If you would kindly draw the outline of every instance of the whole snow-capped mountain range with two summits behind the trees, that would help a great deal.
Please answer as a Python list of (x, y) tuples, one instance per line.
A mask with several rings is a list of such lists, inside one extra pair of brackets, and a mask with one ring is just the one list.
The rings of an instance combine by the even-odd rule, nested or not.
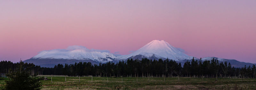
[[(106, 62), (118, 62), (119, 60), (127, 59), (172, 59), (183, 65), (186, 61), (192, 60), (193, 56), (188, 56), (179, 49), (171, 46), (164, 40), (153, 40), (138, 49), (137, 51), (122, 56), (115, 56), (109, 53), (108, 50), (96, 50), (87, 49), (83, 46), (69, 46), (67, 49), (53, 49), (41, 51), (38, 55), (25, 60), (26, 63), (34, 63), (42, 67), (54, 67), (57, 64), (75, 64), (79, 62), (91, 62), (92, 64), (106, 63)], [(249, 66), (251, 63), (239, 62), (234, 59), (223, 59), (218, 57), (204, 57), (205, 60), (218, 59), (220, 62), (227, 61), (234, 67), (244, 67), (244, 65)], [(199, 60), (195, 57), (196, 60)]]

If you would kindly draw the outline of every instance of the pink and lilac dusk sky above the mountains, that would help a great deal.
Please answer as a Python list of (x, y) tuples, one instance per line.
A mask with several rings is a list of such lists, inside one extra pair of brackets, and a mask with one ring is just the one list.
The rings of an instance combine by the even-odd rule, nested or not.
[(197, 58), (256, 63), (255, 0), (0, 0), (0, 60), (80, 45), (129, 54), (164, 40)]

